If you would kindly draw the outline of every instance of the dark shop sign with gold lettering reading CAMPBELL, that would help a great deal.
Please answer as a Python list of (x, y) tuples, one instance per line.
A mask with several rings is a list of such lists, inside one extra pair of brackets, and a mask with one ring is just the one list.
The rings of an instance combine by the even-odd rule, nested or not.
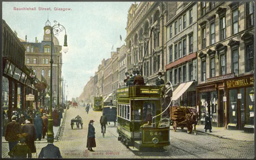
[(247, 78), (241, 78), (237, 80), (226, 81), (227, 88), (253, 85), (253, 82), (254, 82), (254, 77), (247, 77)]

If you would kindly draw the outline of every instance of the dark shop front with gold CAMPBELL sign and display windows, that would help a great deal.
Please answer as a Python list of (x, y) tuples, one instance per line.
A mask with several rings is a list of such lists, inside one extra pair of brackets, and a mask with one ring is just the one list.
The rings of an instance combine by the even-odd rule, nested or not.
[[(254, 130), (254, 77), (237, 77), (226, 80), (228, 128), (235, 130)], [(253, 93), (254, 94), (254, 93)]]

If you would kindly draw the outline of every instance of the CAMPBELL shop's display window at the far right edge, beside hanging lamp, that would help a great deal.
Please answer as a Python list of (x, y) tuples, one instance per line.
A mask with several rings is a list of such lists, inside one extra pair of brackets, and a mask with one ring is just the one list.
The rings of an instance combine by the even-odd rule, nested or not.
[(252, 87), (246, 88), (246, 119), (245, 124), (254, 125), (254, 103), (251, 101), (250, 92)]

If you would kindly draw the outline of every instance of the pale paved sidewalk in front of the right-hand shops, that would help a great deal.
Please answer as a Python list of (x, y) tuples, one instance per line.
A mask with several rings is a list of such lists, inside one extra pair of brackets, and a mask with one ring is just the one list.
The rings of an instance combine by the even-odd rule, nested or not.
[[(173, 129), (172, 126), (170, 128)], [(184, 130), (187, 130), (187, 128), (184, 128)], [(212, 127), (212, 133), (210, 133), (209, 130), (205, 132), (204, 125), (197, 125), (196, 131), (224, 139), (254, 142), (254, 133), (246, 133), (241, 130), (228, 130), (224, 127)], [(194, 134), (194, 129), (192, 134)]]

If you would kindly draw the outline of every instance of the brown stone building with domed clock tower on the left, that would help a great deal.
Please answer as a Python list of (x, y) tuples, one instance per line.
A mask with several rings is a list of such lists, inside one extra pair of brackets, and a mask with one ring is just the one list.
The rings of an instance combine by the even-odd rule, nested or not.
[[(21, 39), (22, 44), (26, 48), (25, 52), (25, 64), (28, 67), (31, 67), (34, 71), (35, 75), (38, 79), (43, 79), (41, 76), (45, 78), (47, 84), (50, 86), (50, 53), (51, 53), (51, 24), (49, 20), (46, 21), (44, 26), (44, 36), (43, 41), (38, 42), (37, 37), (35, 37), (35, 42), (28, 42), (27, 35), (25, 37), (25, 41)], [(61, 87), (61, 68), (62, 68), (62, 54), (59, 54), (62, 46), (59, 45), (58, 39), (53, 36), (53, 72), (52, 72), (52, 102), (57, 103), (57, 69), (59, 69), (59, 100), (62, 100), (62, 87)], [(58, 63), (58, 55), (59, 55), (59, 68)]]

